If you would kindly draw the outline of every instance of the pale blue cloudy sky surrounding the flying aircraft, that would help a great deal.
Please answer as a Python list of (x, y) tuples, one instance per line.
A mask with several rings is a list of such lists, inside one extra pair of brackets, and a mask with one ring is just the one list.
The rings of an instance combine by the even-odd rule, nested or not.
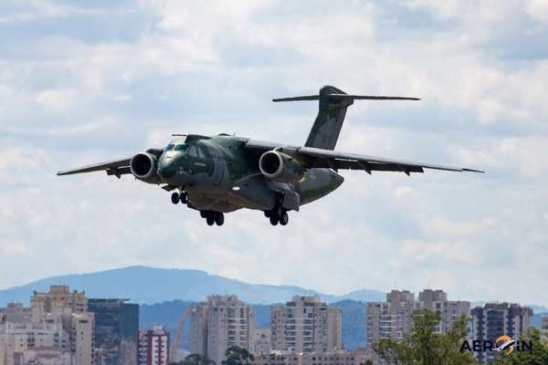
[[(548, 305), (546, 1), (4, 0), (0, 34), (0, 288), (142, 265)], [(285, 227), (56, 175), (172, 133), (300, 145), (317, 103), (271, 99), (323, 85), (421, 98), (356, 100), (337, 151), (487, 173), (341, 171)]]

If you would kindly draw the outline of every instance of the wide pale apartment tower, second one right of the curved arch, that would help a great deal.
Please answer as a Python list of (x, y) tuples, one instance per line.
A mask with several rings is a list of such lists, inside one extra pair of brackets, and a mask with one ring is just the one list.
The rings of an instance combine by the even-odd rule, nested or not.
[(328, 352), (342, 349), (342, 309), (328, 307), (319, 296), (295, 296), (270, 309), (270, 349)]

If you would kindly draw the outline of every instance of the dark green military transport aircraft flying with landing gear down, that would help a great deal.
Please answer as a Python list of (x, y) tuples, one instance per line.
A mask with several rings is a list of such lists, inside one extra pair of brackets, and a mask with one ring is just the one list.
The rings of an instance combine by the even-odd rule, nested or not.
[(333, 151), (346, 109), (357, 99), (418, 100), (400, 97), (348, 95), (324, 86), (319, 95), (272, 101), (319, 100), (320, 109), (304, 146), (255, 141), (228, 134), (174, 134), (164, 148), (132, 157), (58, 172), (70, 175), (104, 170), (120, 179), (132, 174), (143, 183), (162, 185), (172, 203), (200, 212), (208, 225), (223, 225), (225, 213), (248, 208), (263, 211), (272, 225), (288, 224), (289, 211), (314, 202), (341, 186), (339, 170), (423, 172), (423, 168), (452, 172), (477, 170), (423, 162), (408, 162)]

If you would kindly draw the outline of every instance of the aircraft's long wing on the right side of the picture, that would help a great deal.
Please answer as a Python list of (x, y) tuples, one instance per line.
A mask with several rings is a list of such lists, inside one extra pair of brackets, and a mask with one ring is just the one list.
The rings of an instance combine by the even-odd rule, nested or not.
[(313, 147), (297, 147), (276, 144), (263, 141), (248, 141), (246, 149), (253, 151), (271, 151), (278, 147), (291, 151), (290, 154), (296, 154), (293, 157), (304, 162), (305, 167), (323, 167), (337, 170), (364, 170), (367, 173), (373, 171), (388, 172), (424, 172), (423, 169), (446, 170), (452, 172), (481, 172), (479, 170), (466, 169), (461, 167), (438, 165), (435, 163), (411, 162), (405, 160), (389, 159), (385, 157), (369, 156), (364, 154), (355, 154), (348, 152), (323, 150)]

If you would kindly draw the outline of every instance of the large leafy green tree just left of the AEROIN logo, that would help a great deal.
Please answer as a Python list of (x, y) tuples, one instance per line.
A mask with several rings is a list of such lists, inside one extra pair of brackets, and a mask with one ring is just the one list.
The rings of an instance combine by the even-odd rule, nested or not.
[(399, 364), (467, 365), (474, 364), (471, 353), (460, 352), (462, 341), (469, 335), (469, 321), (465, 315), (456, 319), (444, 334), (436, 333), (441, 313), (425, 309), (411, 314), (413, 328), (404, 334), (400, 343), (394, 339), (380, 339), (373, 344), (381, 359)]

